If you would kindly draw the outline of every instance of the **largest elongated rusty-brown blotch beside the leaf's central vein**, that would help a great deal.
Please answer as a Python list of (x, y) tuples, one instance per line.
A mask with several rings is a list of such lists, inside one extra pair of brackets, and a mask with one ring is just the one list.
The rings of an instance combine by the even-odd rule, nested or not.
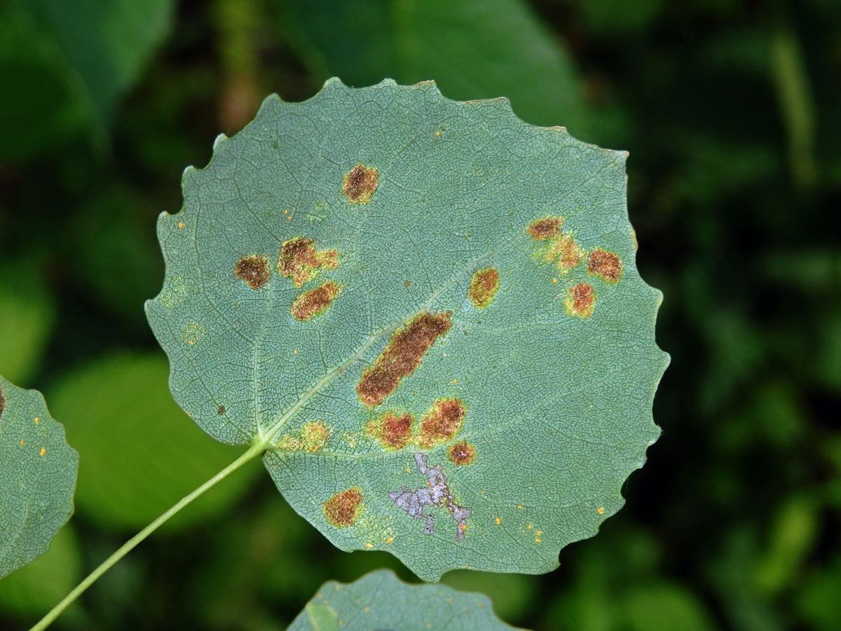
[(424, 313), (394, 331), (373, 366), (362, 373), (357, 384), (359, 400), (366, 406), (380, 405), (400, 383), (421, 365), (424, 354), (438, 337), (450, 330), (450, 314)]

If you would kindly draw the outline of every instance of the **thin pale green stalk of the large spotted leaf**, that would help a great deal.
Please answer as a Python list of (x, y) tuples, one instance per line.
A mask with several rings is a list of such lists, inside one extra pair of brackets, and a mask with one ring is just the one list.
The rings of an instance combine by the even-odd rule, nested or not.
[(266, 442), (259, 440), (251, 445), (251, 448), (248, 449), (245, 453), (243, 453), (239, 458), (235, 459), (234, 462), (229, 464), (225, 469), (222, 469), (218, 474), (214, 475), (210, 480), (205, 482), (203, 485), (199, 486), (198, 489), (193, 490), (187, 496), (183, 496), (181, 500), (177, 501), (176, 504), (171, 506), (167, 512), (161, 514), (160, 517), (157, 517), (154, 522), (151, 522), (148, 526), (143, 528), (140, 533), (135, 534), (134, 537), (130, 538), (126, 541), (114, 554), (105, 559), (98, 567), (93, 570), (87, 577), (79, 583), (73, 590), (67, 594), (64, 599), (59, 602), (56, 607), (53, 607), (44, 618), (41, 618), (40, 621), (34, 625), (29, 631), (43, 631), (43, 629), (50, 626), (56, 618), (61, 615), (61, 612), (67, 607), (70, 607), (73, 601), (75, 601), (78, 597), (82, 595), (82, 592), (87, 590), (88, 587), (92, 586), (97, 579), (105, 574), (111, 567), (122, 559), (126, 554), (128, 554), (132, 549), (135, 549), (137, 544), (140, 544), (146, 537), (154, 533), (158, 528), (161, 527), (167, 520), (179, 512), (184, 506), (187, 506), (191, 501), (195, 500), (198, 496), (202, 495), (205, 490), (208, 490), (212, 486), (216, 485), (221, 480), (225, 480), (230, 474), (232, 474), (236, 469), (239, 469), (243, 464), (257, 458), (263, 451), (266, 449)]

